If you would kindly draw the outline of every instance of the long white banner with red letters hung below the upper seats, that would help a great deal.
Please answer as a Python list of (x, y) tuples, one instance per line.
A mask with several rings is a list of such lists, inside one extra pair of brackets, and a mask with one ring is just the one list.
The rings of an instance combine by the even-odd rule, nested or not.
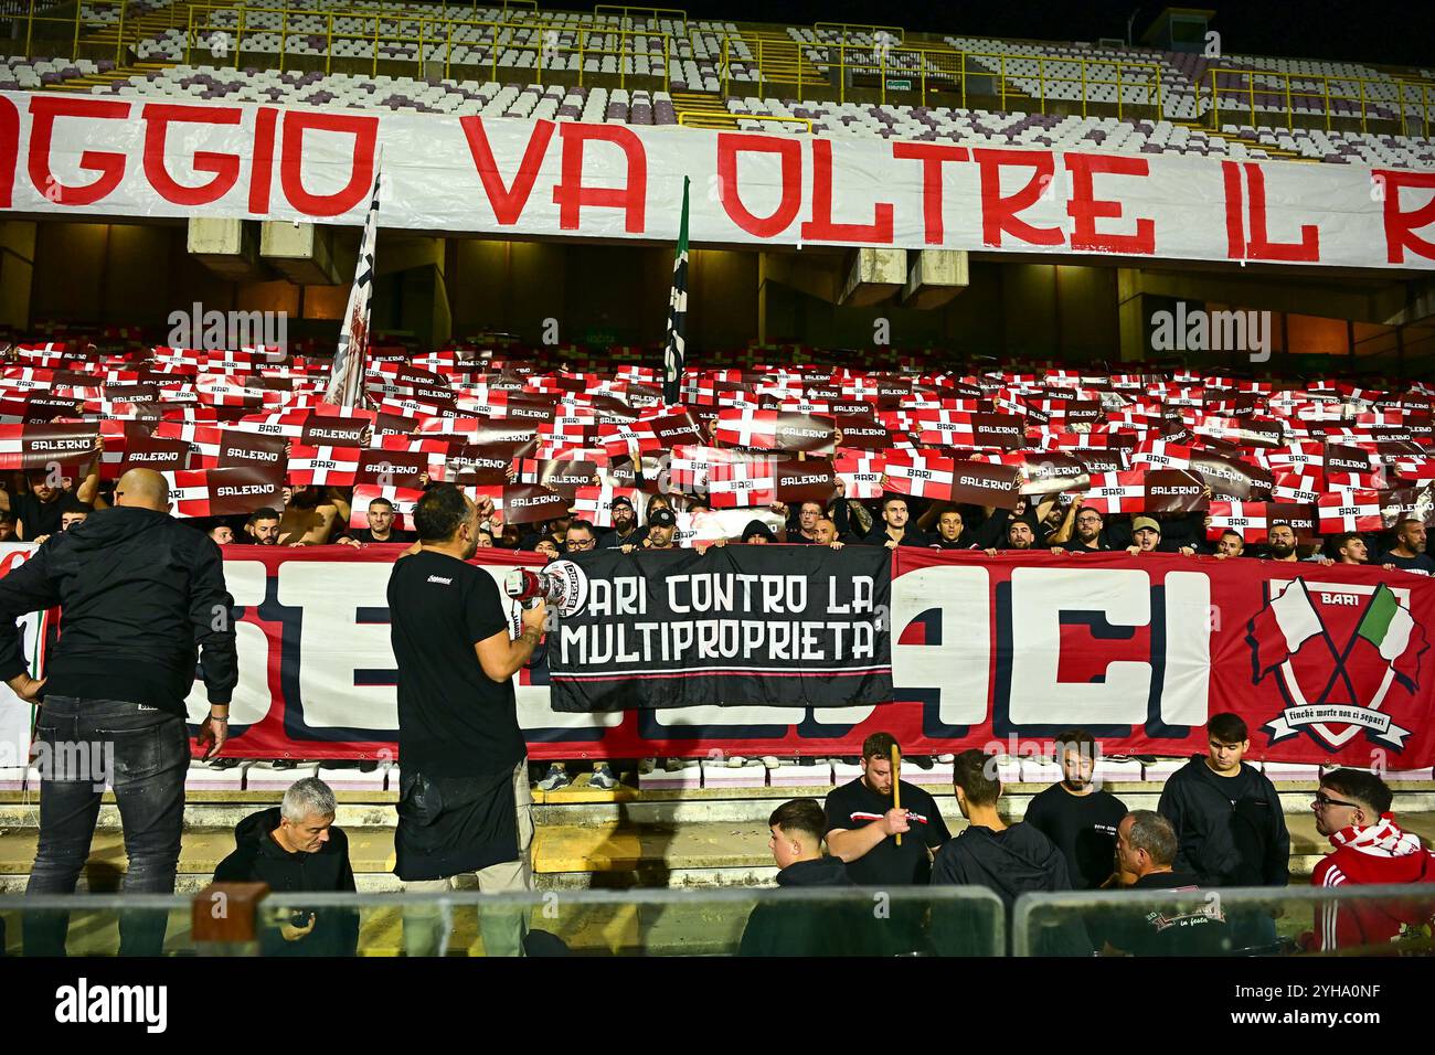
[(0, 93), (0, 210), (1435, 267), (1435, 171)]

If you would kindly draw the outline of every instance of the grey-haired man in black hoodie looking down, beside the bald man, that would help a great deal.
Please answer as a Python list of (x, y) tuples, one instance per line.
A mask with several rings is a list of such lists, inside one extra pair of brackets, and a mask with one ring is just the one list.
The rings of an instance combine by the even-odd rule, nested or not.
[[(234, 853), (214, 870), (215, 883), (267, 883), (274, 894), (354, 890), (349, 840), (334, 827), (333, 789), (317, 777), (294, 781), (277, 807), (250, 814), (234, 828)], [(287, 899), (277, 929), (261, 937), (264, 956), (353, 956), (359, 914), (350, 909), (301, 909)]]

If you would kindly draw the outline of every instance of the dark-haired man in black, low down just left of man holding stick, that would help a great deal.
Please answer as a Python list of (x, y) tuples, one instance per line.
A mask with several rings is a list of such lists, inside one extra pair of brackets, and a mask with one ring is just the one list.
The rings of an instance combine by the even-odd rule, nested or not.
[[(795, 798), (784, 802), (768, 818), (772, 837), (768, 848), (778, 863), (778, 886), (828, 887), (835, 891), (854, 887), (841, 857), (822, 855), (822, 830), (827, 814), (817, 800)], [(742, 932), (739, 956), (851, 956), (860, 947), (854, 923), (870, 917), (855, 901), (824, 901), (821, 890), (806, 903), (759, 904)], [(854, 909), (857, 911), (854, 913)], [(842, 920), (847, 920), (844, 924)]]

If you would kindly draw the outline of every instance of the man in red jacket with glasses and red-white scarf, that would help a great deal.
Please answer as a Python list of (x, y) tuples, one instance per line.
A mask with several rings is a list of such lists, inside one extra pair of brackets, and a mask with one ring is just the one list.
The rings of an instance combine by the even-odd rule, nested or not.
[[(1316, 831), (1335, 844), (1310, 876), (1317, 887), (1368, 883), (1435, 883), (1435, 854), (1418, 835), (1401, 831), (1391, 812), (1391, 789), (1363, 769), (1333, 769), (1320, 778), (1312, 804)], [(1316, 904), (1314, 933), (1303, 944), (1314, 952), (1389, 944), (1401, 930), (1431, 923), (1435, 887), (1419, 903), (1386, 899)], [(1392, 950), (1393, 952), (1393, 950)]]

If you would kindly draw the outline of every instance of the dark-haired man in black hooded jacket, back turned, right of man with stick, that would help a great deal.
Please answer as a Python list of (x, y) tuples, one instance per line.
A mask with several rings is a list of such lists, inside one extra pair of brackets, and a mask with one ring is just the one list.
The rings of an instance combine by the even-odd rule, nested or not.
[[(1010, 934), (1012, 909), (1020, 894), (1072, 888), (1066, 858), (1030, 824), (1009, 825), (1002, 820), (997, 812), (1002, 781), (994, 758), (976, 748), (963, 751), (953, 759), (951, 782), (967, 827), (937, 851), (931, 884), (986, 887), (1002, 899)], [(976, 920), (973, 911), (960, 903), (933, 906), (931, 937), (940, 955), (986, 952), (971, 942), (990, 926)], [(1033, 947), (1042, 956), (1085, 956), (1091, 950), (1085, 927), (1076, 920), (1043, 930)]]

